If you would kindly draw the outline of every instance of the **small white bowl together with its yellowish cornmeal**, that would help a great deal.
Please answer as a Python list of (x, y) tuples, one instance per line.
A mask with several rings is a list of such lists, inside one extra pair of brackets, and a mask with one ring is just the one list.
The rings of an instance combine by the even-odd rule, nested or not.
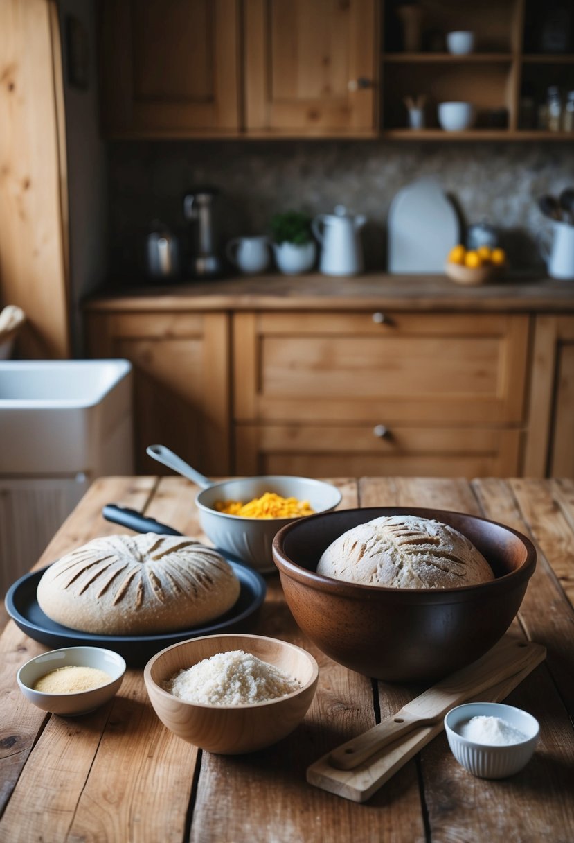
[(125, 661), (103, 647), (64, 647), (30, 658), (16, 679), (27, 700), (52, 714), (75, 717), (111, 700), (124, 679)]

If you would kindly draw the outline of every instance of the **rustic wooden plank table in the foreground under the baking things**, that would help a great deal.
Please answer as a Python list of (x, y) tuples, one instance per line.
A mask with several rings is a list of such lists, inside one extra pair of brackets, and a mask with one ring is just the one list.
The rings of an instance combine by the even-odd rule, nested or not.
[[(363, 732), (422, 689), (371, 683), (306, 641), (284, 604), (279, 579), (252, 631), (307, 647), (321, 675), (305, 721), (276, 746), (244, 756), (202, 753), (157, 720), (142, 673), (128, 670), (114, 701), (79, 718), (45, 715), (19, 693), (16, 672), (47, 647), (12, 621), (0, 639), (0, 840), (107, 843), (312, 843), (312, 841), (574, 840), (574, 481), (337, 481), (343, 507), (433, 506), (483, 514), (529, 534), (539, 561), (514, 631), (547, 647), (545, 663), (508, 697), (539, 718), (533, 760), (504, 781), (470, 776), (441, 733), (358, 804), (311, 787), (306, 767)], [(145, 510), (199, 534), (194, 488), (179, 478), (97, 481), (38, 566), (121, 529), (105, 503)]]

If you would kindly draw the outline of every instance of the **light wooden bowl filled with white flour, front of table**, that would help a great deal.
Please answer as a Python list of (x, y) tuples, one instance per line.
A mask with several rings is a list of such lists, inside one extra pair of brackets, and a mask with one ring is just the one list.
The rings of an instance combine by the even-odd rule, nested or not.
[(218, 754), (254, 752), (292, 732), (311, 705), (318, 676), (315, 658), (301, 647), (240, 634), (174, 644), (144, 669), (164, 726)]

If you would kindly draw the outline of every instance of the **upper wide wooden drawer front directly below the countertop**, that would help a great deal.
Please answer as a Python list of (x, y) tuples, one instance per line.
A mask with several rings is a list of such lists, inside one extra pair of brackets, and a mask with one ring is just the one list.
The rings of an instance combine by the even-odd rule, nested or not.
[(528, 331), (521, 314), (236, 314), (235, 417), (519, 422)]

